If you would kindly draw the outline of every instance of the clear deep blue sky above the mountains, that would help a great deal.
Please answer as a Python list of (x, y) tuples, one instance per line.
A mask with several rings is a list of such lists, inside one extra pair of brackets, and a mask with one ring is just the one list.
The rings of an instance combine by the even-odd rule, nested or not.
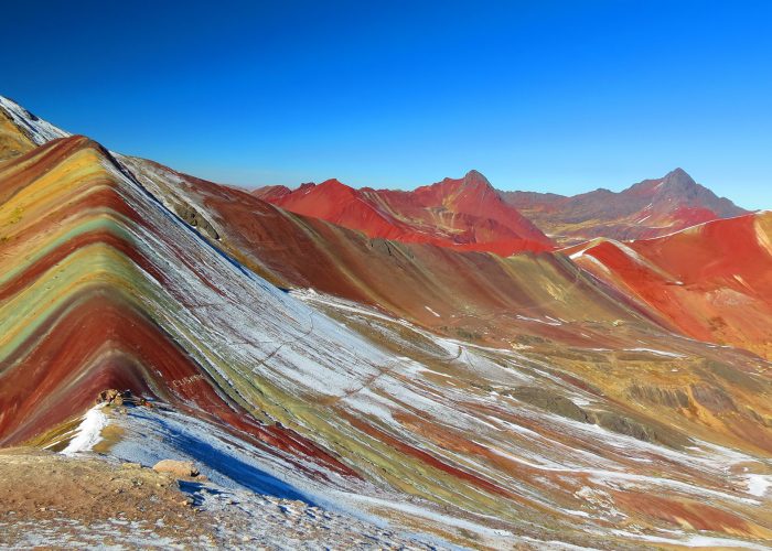
[(0, 94), (239, 185), (621, 190), (772, 207), (771, 2), (7, 2)]

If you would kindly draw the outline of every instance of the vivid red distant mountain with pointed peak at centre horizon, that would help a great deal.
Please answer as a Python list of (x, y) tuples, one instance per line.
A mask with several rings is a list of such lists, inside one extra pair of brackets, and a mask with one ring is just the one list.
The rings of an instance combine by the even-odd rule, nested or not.
[(254, 194), (287, 210), (358, 229), (368, 237), (501, 256), (553, 249), (550, 239), (507, 205), (476, 171), (410, 192), (355, 190), (328, 180), (294, 191), (262, 187)]

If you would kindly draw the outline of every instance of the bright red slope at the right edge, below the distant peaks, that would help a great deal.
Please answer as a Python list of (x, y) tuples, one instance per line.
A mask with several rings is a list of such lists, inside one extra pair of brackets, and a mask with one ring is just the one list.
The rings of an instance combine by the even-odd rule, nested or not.
[(687, 335), (772, 355), (772, 213), (567, 249)]

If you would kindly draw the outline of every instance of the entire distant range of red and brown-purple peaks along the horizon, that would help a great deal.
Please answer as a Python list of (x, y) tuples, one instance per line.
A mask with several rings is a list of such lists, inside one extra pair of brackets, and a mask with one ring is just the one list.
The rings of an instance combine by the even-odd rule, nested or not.
[(623, 192), (597, 190), (571, 197), (496, 191), (478, 171), (414, 191), (355, 190), (329, 180), (294, 191), (266, 186), (253, 193), (293, 213), (358, 229), (369, 237), (503, 256), (549, 250), (596, 237), (658, 237), (748, 214), (697, 184), (682, 169)]

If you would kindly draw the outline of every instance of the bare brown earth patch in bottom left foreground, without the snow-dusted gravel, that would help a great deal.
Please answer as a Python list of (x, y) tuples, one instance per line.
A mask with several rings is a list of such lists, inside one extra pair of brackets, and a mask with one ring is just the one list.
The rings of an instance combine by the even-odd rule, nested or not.
[(86, 526), (140, 522), (156, 537), (213, 542), (204, 528), (212, 522), (202, 522), (202, 515), (206, 514), (193, 507), (175, 478), (138, 464), (26, 447), (0, 450), (0, 547), (18, 541), (23, 536), (18, 532), (28, 531), (30, 521), (60, 519)]

